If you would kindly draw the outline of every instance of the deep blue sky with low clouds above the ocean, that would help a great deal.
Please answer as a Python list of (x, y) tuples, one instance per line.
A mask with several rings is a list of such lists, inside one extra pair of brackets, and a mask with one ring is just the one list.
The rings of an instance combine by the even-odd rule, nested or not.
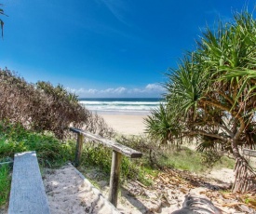
[(0, 68), (80, 97), (158, 97), (201, 31), (254, 1), (2, 0)]

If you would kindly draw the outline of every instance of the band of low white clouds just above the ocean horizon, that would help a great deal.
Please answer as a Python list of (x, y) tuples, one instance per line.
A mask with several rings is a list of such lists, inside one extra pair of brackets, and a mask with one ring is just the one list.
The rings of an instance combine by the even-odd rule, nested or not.
[(160, 97), (165, 88), (158, 84), (148, 84), (145, 87), (115, 87), (106, 89), (95, 88), (67, 88), (80, 98), (137, 98), (137, 97)]

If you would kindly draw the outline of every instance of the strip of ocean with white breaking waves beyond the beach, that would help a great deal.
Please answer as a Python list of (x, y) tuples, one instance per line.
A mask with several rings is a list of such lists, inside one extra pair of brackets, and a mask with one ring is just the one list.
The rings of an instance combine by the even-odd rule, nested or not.
[(88, 110), (97, 114), (148, 115), (161, 102), (159, 98), (82, 98), (79, 100)]

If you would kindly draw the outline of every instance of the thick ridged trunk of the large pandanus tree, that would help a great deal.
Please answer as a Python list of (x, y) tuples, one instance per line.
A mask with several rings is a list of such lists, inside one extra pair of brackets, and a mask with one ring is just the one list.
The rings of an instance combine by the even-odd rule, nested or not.
[(235, 140), (232, 141), (232, 151), (236, 158), (235, 165), (235, 181), (232, 187), (233, 193), (246, 193), (249, 191), (256, 190), (256, 174), (251, 167), (249, 162), (239, 154), (237, 143)]

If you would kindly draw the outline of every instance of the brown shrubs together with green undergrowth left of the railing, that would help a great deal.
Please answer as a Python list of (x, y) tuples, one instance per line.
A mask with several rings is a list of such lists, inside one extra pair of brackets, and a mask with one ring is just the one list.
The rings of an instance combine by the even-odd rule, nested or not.
[[(105, 137), (114, 134), (99, 115), (90, 113), (61, 85), (31, 84), (6, 68), (0, 69), (0, 95), (0, 162), (25, 151), (36, 151), (41, 167), (61, 167), (73, 161), (71, 124)], [(7, 203), (9, 169), (0, 166), (0, 206)]]

